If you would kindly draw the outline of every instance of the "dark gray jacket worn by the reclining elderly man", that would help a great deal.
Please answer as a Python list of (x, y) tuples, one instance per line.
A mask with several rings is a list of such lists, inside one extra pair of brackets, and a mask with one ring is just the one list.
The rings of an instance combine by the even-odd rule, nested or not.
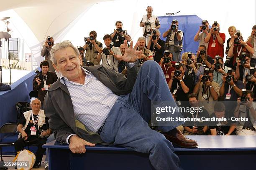
[[(127, 78), (114, 70), (102, 67), (102, 65), (84, 68), (92, 72), (98, 80), (116, 95), (127, 95), (132, 91), (135, 84), (140, 68), (137, 65), (138, 62), (132, 68), (127, 67)], [(67, 137), (72, 133), (90, 143), (102, 143), (100, 135), (89, 133), (77, 125), (68, 88), (60, 82), (60, 79), (51, 85), (44, 98), (44, 112), (49, 117), (49, 128), (54, 131), (54, 136), (60, 143), (66, 143)]]

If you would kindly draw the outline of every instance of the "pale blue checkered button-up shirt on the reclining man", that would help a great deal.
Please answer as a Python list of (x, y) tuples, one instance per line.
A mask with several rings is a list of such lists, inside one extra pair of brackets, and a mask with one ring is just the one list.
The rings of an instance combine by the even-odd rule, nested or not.
[(118, 95), (106, 87), (91, 72), (81, 67), (86, 74), (84, 85), (72, 82), (61, 75), (60, 81), (67, 85), (74, 107), (74, 116), (87, 130), (97, 133)]

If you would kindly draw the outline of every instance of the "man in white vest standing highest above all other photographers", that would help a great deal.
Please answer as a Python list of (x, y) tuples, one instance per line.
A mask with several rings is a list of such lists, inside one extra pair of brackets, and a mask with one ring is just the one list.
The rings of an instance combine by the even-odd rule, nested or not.
[(148, 14), (143, 15), (140, 27), (143, 27), (143, 36), (146, 37), (146, 44), (148, 44), (152, 29), (159, 29), (161, 25), (157, 16), (152, 15), (153, 8), (151, 6), (148, 6), (146, 11)]

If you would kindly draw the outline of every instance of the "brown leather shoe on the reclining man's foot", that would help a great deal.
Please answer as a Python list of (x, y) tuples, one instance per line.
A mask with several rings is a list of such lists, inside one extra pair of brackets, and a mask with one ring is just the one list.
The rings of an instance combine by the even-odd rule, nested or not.
[(163, 133), (165, 138), (169, 140), (170, 142), (174, 143), (175, 145), (178, 145), (182, 148), (195, 148), (197, 147), (197, 141), (192, 140), (184, 136), (180, 130), (177, 130), (176, 138), (174, 138), (171, 135), (168, 135), (167, 133)]

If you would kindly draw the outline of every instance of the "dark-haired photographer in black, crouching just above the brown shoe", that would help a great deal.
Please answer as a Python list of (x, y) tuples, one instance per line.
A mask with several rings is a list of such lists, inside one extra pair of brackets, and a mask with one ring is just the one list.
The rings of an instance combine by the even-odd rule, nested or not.
[[(188, 99), (189, 99), (190, 107), (199, 108), (199, 100), (198, 100), (198, 97), (195, 93), (189, 94)], [(208, 114), (207, 110), (202, 108), (202, 112), (200, 112), (199, 109), (198, 109), (198, 111), (195, 112), (194, 114), (192, 114), (190, 112), (185, 112), (184, 117), (202, 119), (202, 117), (206, 117), (206, 118), (209, 117), (209, 114)], [(197, 120), (195, 120), (195, 121), (186, 121), (183, 126), (184, 126), (183, 135), (205, 135), (205, 133), (208, 129), (208, 126), (205, 125), (204, 122), (197, 121)]]

